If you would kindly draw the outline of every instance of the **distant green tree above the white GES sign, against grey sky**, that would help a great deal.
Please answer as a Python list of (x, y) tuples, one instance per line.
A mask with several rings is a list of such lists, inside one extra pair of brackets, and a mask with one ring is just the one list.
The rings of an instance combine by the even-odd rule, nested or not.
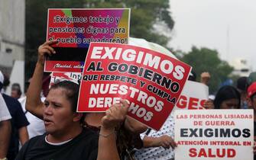
[(202, 72), (210, 73), (210, 93), (217, 91), (220, 83), (224, 82), (228, 78), (228, 75), (233, 71), (232, 66), (229, 66), (228, 62), (219, 59), (216, 50), (207, 48), (199, 49), (196, 48), (196, 46), (193, 46), (192, 50), (189, 53), (184, 54), (181, 60), (193, 67), (198, 81), (200, 80)]

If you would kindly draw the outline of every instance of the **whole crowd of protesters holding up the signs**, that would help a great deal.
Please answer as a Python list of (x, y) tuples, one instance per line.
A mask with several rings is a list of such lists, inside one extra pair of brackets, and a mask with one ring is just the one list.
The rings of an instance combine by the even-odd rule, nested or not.
[[(77, 113), (79, 85), (73, 82), (58, 82), (46, 97), (42, 96), (44, 59), (56, 54), (53, 43), (57, 41), (39, 46), (34, 75), (24, 96), (17, 83), (11, 86), (11, 96), (5, 94), (8, 76), (0, 71), (0, 160), (174, 159), (177, 143), (173, 140), (173, 114), (155, 131), (127, 116), (125, 100), (112, 104), (104, 114)], [(253, 109), (256, 134), (254, 75), (238, 78), (236, 86), (222, 86), (203, 107)], [(203, 84), (209, 85), (209, 72), (200, 77)], [(189, 80), (196, 80), (195, 72), (190, 73)]]

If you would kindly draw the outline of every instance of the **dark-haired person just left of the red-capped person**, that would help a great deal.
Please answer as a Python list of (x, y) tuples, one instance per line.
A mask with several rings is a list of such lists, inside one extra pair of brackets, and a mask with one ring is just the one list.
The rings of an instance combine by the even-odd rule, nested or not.
[(248, 88), (248, 78), (240, 77), (236, 81), (236, 88), (241, 94), (241, 109), (248, 109), (247, 103), (247, 88)]

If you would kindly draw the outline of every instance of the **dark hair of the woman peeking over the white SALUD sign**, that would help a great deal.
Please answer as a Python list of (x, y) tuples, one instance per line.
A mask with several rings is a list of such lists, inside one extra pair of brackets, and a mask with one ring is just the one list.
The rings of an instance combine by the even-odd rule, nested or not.
[(220, 104), (222, 104), (223, 101), (230, 100), (233, 98), (238, 99), (238, 103), (240, 105), (240, 93), (235, 87), (231, 85), (225, 85), (222, 88), (219, 88), (219, 91), (215, 95), (215, 99), (213, 101), (215, 109), (220, 109)]

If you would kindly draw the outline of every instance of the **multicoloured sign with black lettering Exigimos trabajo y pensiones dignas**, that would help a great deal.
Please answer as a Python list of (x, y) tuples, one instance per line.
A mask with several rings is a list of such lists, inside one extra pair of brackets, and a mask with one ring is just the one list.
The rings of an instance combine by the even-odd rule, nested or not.
[(82, 72), (89, 43), (128, 43), (129, 21), (129, 8), (49, 9), (47, 40), (59, 43), (44, 71)]

